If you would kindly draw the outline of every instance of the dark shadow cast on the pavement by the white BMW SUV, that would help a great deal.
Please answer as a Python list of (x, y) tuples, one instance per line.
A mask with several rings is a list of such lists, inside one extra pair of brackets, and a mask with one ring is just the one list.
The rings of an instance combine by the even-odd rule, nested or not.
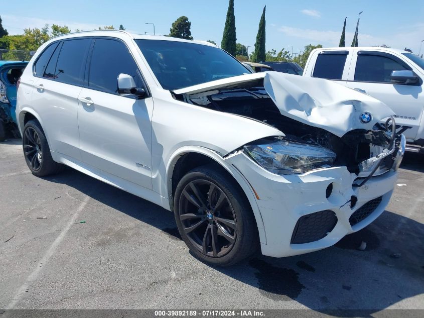
[[(116, 189), (73, 169), (46, 177), (181, 239), (174, 216), (158, 205)], [(94, 190), (93, 190), (94, 189)], [(365, 243), (363, 243), (365, 242)], [(258, 288), (274, 307), (296, 300), (314, 310), (338, 316), (371, 315), (424, 293), (424, 225), (385, 211), (367, 228), (328, 249), (271, 258), (257, 252), (229, 268), (213, 268)], [(361, 250), (360, 247), (364, 248)], [(187, 257), (191, 257), (187, 251)], [(158, 260), (160, 261), (160, 260)], [(419, 306), (415, 303), (415, 306)]]

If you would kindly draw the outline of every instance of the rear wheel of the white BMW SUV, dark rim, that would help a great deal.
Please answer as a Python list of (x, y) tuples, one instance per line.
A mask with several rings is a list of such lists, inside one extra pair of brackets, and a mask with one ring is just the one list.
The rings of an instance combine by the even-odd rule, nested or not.
[(32, 174), (44, 177), (63, 170), (63, 165), (53, 161), (49, 144), (38, 121), (30, 120), (25, 124), (22, 146), (25, 161)]

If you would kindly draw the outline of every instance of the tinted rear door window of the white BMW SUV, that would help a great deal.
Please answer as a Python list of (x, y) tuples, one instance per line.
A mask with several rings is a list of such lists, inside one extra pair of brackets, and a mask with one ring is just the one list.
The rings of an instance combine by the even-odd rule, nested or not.
[(82, 85), (90, 45), (91, 39), (64, 41), (53, 73), (54, 79), (67, 84)]

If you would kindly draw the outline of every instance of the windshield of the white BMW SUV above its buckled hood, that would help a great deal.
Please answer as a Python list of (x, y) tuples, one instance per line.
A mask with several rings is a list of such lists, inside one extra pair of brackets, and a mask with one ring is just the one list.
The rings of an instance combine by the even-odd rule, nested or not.
[(235, 58), (216, 47), (165, 40), (135, 42), (164, 89), (175, 90), (249, 73)]

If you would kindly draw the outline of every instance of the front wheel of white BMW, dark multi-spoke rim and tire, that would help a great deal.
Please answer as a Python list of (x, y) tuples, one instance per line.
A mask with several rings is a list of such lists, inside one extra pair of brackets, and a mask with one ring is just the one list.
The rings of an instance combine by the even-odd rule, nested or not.
[(209, 265), (233, 265), (259, 245), (247, 198), (235, 180), (214, 165), (195, 168), (180, 180), (174, 216), (191, 253)]

